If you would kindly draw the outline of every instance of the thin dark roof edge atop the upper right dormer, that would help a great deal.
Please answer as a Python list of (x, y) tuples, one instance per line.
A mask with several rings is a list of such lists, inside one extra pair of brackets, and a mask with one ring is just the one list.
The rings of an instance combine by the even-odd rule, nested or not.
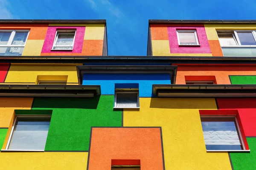
[(148, 23), (218, 23), (218, 24), (230, 24), (230, 23), (240, 23), (240, 24), (252, 24), (256, 23), (256, 20), (148, 20)]

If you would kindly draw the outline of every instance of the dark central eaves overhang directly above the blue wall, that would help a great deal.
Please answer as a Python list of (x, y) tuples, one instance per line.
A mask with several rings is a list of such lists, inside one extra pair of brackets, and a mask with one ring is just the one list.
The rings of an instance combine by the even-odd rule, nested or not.
[(85, 72), (90, 74), (167, 73), (172, 75), (172, 83), (175, 83), (177, 73), (175, 65), (78, 65), (76, 69), (79, 85), (82, 84)]

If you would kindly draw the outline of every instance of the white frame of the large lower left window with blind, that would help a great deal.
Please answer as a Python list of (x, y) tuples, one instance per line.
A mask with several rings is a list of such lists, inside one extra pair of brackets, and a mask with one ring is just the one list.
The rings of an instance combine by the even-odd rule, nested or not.
[(14, 150), (14, 149), (8, 149), (8, 147), (10, 145), (10, 142), (11, 142), (11, 139), (12, 139), (12, 134), (13, 134), (13, 131), (14, 131), (14, 128), (15, 128), (15, 125), (16, 125), (18, 117), (27, 117), (27, 118), (47, 117), (47, 118), (51, 118), (52, 116), (51, 115), (16, 115), (15, 119), (14, 119), (14, 122), (12, 124), (12, 130), (10, 132), (10, 135), (9, 135), (9, 138), (8, 138), (8, 142), (6, 144), (6, 148), (5, 148), (5, 150), (2, 149), (2, 151), (35, 151), (35, 152), (44, 152), (44, 150), (16, 150), (16, 149)]

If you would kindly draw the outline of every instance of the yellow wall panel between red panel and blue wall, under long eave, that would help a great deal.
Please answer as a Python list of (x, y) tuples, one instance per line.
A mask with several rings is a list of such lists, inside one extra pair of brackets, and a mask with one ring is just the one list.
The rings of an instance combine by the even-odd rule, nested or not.
[(67, 76), (67, 82), (78, 82), (76, 65), (80, 64), (12, 64), (5, 82), (36, 83), (38, 75)]

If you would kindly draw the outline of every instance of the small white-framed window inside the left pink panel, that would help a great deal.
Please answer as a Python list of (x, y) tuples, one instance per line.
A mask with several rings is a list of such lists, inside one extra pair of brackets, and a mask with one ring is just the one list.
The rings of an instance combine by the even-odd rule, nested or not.
[(76, 30), (57, 30), (52, 50), (73, 50)]

